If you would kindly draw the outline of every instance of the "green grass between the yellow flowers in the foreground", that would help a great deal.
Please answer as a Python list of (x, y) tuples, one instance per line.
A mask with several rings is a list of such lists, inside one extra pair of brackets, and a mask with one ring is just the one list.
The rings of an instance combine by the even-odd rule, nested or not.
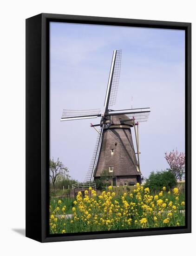
[[(74, 201), (76, 200), (75, 198), (67, 198), (64, 196), (51, 197), (50, 198), (50, 216), (53, 216), (52, 217), (53, 219), (50, 221), (50, 224), (55, 225), (55, 228), (52, 228), (52, 226), (50, 226), (51, 227), (50, 232), (53, 234), (53, 233), (61, 233), (62, 230), (66, 230), (66, 233), (72, 233), (72, 232), (85, 232), (85, 231), (88, 232), (88, 231), (101, 231), (101, 230), (166, 227), (168, 225), (183, 226), (185, 223), (185, 218), (184, 218), (184, 212), (181, 211), (181, 210), (184, 210), (184, 206), (181, 205), (181, 202), (185, 201), (184, 184), (180, 184), (178, 188), (179, 188), (178, 200), (176, 200), (176, 195), (174, 195), (173, 193), (168, 194), (167, 191), (163, 191), (163, 196), (159, 196), (160, 199), (163, 199), (163, 202), (165, 201), (165, 199), (168, 200), (167, 205), (170, 201), (173, 202), (173, 205), (176, 205), (176, 206), (178, 205), (176, 211), (173, 211), (173, 216), (170, 219), (169, 224), (165, 224), (163, 220), (167, 218), (167, 214), (168, 212), (170, 212), (171, 207), (167, 206), (167, 208), (163, 209), (163, 212), (161, 213), (161, 217), (158, 217), (158, 213), (160, 212), (160, 209), (159, 207), (157, 207), (157, 200), (153, 199), (155, 203), (155, 208), (153, 208), (153, 212), (151, 212), (150, 214), (149, 211), (146, 211), (145, 209), (142, 208), (141, 202), (142, 203), (144, 202), (144, 204), (146, 204), (144, 200), (144, 192), (142, 195), (142, 201), (138, 201), (136, 196), (137, 192), (133, 192), (134, 189), (137, 189), (135, 186), (130, 186), (128, 188), (116, 187), (112, 189), (112, 192), (116, 193), (116, 196), (110, 199), (112, 204), (115, 205), (115, 201), (118, 201), (119, 207), (120, 207), (119, 210), (122, 208), (123, 209), (122, 213), (123, 213), (125, 208), (124, 208), (124, 202), (122, 200), (122, 195), (126, 193), (127, 195), (125, 196), (124, 200), (126, 200), (126, 202), (129, 205), (131, 205), (130, 203), (136, 203), (134, 210), (136, 210), (138, 213), (136, 214), (136, 212), (133, 212), (130, 207), (128, 211), (129, 214), (127, 215), (127, 217), (121, 216), (117, 221), (115, 219), (116, 218), (115, 212), (112, 212), (111, 216), (108, 215), (109, 208), (107, 208), (107, 211), (104, 212), (104, 209), (105, 209), (104, 202), (106, 202), (104, 201), (104, 199), (102, 199), (103, 202), (101, 204), (100, 209), (97, 206), (93, 206), (92, 203), (90, 202), (89, 203), (86, 202), (84, 204), (86, 205), (85, 211), (88, 210), (89, 213), (91, 213), (91, 217), (89, 219), (88, 218), (86, 219), (85, 217), (85, 220), (84, 220), (82, 219), (84, 216), (84, 213), (80, 211), (80, 209), (78, 208), (78, 204), (76, 205), (74, 204)], [(133, 198), (130, 197), (130, 193), (134, 195)], [(98, 195), (100, 194), (101, 192), (98, 191)], [(60, 195), (60, 193), (58, 195)], [(156, 195), (156, 193), (150, 193), (150, 195), (152, 195), (154, 198), (154, 195)], [(91, 198), (92, 197), (90, 196), (90, 199)], [(98, 196), (93, 197), (93, 199), (96, 200), (97, 202), (99, 201)], [(59, 202), (59, 200), (61, 202)], [(64, 207), (64, 205), (66, 206), (66, 210), (63, 212), (62, 208)], [(72, 210), (73, 207), (75, 208), (75, 211)], [(150, 204), (149, 204), (149, 207), (151, 207)], [(91, 208), (91, 211), (89, 210), (90, 208)], [(70, 218), (67, 219), (66, 216), (64, 216), (68, 214), (72, 215), (71, 219)], [(62, 216), (62, 215), (63, 215), (63, 218), (59, 218), (59, 216)], [(74, 220), (74, 216), (77, 217), (78, 220)], [(98, 217), (99, 224), (95, 223), (95, 219), (94, 219), (95, 216)], [(153, 216), (157, 216), (159, 218), (157, 226), (155, 226), (155, 221), (153, 220)], [(106, 225), (105, 223), (101, 223), (100, 218), (102, 217), (105, 219), (105, 223), (107, 220), (113, 219), (112, 224)], [(131, 225), (127, 224), (128, 218), (132, 219)], [(142, 223), (140, 223), (142, 218), (147, 219), (147, 224), (142, 225)], [(90, 221), (90, 224), (87, 223), (88, 220)], [(137, 223), (135, 223), (135, 220), (137, 220)]]

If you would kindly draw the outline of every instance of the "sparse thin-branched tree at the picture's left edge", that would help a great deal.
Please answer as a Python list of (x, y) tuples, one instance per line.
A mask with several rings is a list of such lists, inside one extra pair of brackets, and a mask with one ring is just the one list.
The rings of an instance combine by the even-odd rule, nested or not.
[(53, 186), (53, 192), (55, 194), (55, 182), (57, 181), (59, 176), (63, 176), (66, 178), (70, 178), (68, 168), (59, 161), (59, 158), (55, 162), (54, 159), (50, 159), (50, 179)]

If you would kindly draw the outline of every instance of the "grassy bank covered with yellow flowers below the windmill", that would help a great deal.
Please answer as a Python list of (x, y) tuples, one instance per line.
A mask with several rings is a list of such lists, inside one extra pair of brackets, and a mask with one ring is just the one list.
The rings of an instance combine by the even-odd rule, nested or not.
[[(126, 191), (126, 192), (125, 192)], [(76, 199), (50, 200), (50, 232), (73, 233), (117, 229), (183, 226), (184, 189), (150, 193), (142, 186), (109, 187), (98, 192), (89, 189)], [(66, 219), (66, 214), (72, 214)]]

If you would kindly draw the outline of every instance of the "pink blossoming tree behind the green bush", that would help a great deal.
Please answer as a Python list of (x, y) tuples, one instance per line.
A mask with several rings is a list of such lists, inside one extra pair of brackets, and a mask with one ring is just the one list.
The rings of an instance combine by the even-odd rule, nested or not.
[(173, 149), (169, 154), (167, 152), (165, 153), (165, 159), (176, 180), (181, 181), (185, 172), (185, 154), (183, 152), (179, 153), (177, 149)]

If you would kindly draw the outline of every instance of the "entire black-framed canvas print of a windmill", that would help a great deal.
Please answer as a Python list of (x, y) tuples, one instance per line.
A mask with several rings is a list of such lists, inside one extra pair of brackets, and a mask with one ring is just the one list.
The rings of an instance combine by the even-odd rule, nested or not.
[(26, 19), (26, 236), (189, 232), (191, 23)]

